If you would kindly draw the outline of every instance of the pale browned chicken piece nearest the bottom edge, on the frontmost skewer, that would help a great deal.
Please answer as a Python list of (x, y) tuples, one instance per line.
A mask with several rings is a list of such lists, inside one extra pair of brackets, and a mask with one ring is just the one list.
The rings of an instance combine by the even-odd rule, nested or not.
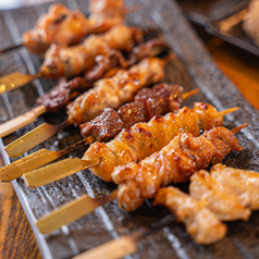
[(186, 225), (187, 233), (200, 245), (210, 245), (226, 235), (226, 225), (217, 215), (189, 195), (175, 187), (163, 187), (153, 205), (163, 205)]

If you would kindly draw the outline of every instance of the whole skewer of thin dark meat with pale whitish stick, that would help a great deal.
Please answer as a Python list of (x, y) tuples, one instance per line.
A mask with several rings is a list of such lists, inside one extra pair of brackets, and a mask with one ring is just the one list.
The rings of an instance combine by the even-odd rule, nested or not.
[(66, 106), (70, 99), (75, 98), (79, 94), (89, 89), (92, 82), (100, 78), (111, 77), (116, 74), (120, 67), (127, 69), (130, 65), (137, 63), (141, 59), (155, 57), (162, 50), (168, 50), (169, 48), (170, 47), (163, 40), (153, 39), (135, 47), (130, 60), (124, 60), (122, 53), (113, 49), (109, 51), (107, 57), (97, 55), (97, 65), (90, 71), (87, 71), (84, 77), (77, 76), (69, 82), (65, 77), (61, 77), (55, 87), (36, 100), (39, 107), (1, 124), (0, 137), (4, 137), (28, 125), (45, 112), (52, 113), (58, 111)]

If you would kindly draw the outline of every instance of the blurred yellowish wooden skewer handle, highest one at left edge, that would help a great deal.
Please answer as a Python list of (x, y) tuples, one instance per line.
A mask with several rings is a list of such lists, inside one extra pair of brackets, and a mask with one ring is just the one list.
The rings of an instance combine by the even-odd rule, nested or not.
[(42, 77), (41, 72), (35, 75), (22, 74), (20, 72), (14, 72), (9, 75), (0, 77), (0, 95), (8, 92), (10, 90), (16, 89), (21, 86), (28, 84), (29, 82)]

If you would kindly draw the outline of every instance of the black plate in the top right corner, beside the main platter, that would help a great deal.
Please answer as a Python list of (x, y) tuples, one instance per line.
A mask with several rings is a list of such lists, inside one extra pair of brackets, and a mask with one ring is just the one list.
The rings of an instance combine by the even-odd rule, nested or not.
[(205, 30), (227, 44), (248, 53), (259, 57), (259, 47), (249, 38), (242, 28), (242, 22), (233, 26), (230, 34), (220, 28), (220, 23), (227, 23), (227, 18), (247, 9), (249, 0), (214, 0), (198, 2), (178, 0), (185, 9), (188, 18), (205, 27)]

